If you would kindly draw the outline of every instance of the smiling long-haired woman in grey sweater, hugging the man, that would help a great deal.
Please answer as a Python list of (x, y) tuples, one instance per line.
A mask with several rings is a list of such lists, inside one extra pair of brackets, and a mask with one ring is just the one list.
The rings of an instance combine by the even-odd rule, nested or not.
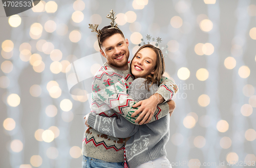
[[(161, 50), (151, 44), (141, 46), (131, 61), (130, 69), (135, 80), (127, 93), (136, 101), (148, 99), (164, 78), (164, 58)], [(178, 88), (175, 89), (177, 91)], [(131, 168), (172, 167), (164, 149), (169, 139), (168, 115), (153, 123), (139, 126), (124, 117), (104, 117), (90, 113), (87, 123), (96, 130), (99, 126), (106, 128), (104, 132), (100, 131), (103, 134), (126, 138), (125, 152)]]

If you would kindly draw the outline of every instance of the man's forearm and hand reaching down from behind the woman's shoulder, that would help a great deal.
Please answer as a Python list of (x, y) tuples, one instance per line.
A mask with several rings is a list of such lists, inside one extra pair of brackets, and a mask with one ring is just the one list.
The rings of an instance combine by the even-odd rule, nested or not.
[[(149, 123), (152, 119), (157, 105), (170, 101), (178, 92), (178, 86), (172, 80), (162, 76), (160, 82), (161, 84), (155, 94), (153, 94), (149, 99), (140, 101), (133, 106), (134, 108), (140, 106), (140, 108), (133, 113), (132, 117), (136, 116), (139, 112), (142, 111), (142, 113), (138, 116), (135, 122), (140, 121), (144, 116), (140, 123)], [(170, 111), (173, 111), (174, 109), (175, 108), (173, 108), (173, 106), (169, 107)]]

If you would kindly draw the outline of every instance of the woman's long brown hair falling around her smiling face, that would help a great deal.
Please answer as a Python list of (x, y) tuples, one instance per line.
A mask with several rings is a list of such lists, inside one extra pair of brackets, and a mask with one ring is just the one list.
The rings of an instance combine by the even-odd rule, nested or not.
[[(155, 70), (155, 73), (154, 74), (150, 74), (150, 75), (147, 75), (145, 77), (145, 87), (150, 83), (151, 85), (149, 87), (151, 87), (153, 84), (157, 84), (158, 86), (160, 85), (160, 80), (162, 78), (162, 75), (164, 73), (164, 70), (165, 70), (165, 64), (164, 64), (164, 58), (163, 58), (163, 54), (161, 52), (160, 49), (158, 49), (157, 47), (155, 47), (154, 45), (152, 44), (145, 44), (143, 46), (141, 46), (139, 48), (139, 50), (135, 53), (133, 59), (136, 57), (137, 53), (141, 50), (141, 49), (144, 49), (145, 47), (148, 47), (150, 49), (152, 49), (156, 55), (157, 55), (157, 61), (156, 61), (156, 65), (154, 67), (154, 70)], [(132, 66), (132, 62), (133, 62), (133, 59), (131, 61), (131, 65)], [(131, 67), (130, 67), (131, 69)], [(147, 90), (149, 90), (149, 87), (147, 88)]]

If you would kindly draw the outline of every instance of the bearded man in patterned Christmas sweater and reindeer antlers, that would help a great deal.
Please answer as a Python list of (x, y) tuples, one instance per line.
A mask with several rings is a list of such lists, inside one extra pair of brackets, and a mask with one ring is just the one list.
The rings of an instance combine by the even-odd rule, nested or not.
[[(114, 22), (100, 31), (97, 26), (93, 30), (98, 33), (100, 53), (106, 58), (106, 62), (92, 82), (91, 112), (108, 117), (125, 117), (133, 124), (153, 122), (169, 111), (172, 112), (175, 108), (173, 101), (169, 101), (169, 105), (160, 103), (173, 97), (174, 84), (163, 78), (159, 89), (151, 98), (136, 103), (126, 93), (133, 81), (128, 61), (129, 41), (114, 27)], [(140, 107), (137, 109), (138, 106)], [(123, 149), (124, 139), (104, 135), (90, 127), (84, 133), (83, 167), (123, 167)]]

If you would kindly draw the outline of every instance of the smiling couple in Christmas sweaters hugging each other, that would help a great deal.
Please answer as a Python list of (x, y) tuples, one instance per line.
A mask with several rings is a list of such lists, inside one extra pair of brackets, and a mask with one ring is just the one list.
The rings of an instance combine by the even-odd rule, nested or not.
[(91, 112), (84, 116), (82, 167), (172, 167), (165, 145), (178, 87), (162, 76), (164, 58), (154, 45), (142, 45), (128, 61), (129, 41), (110, 13), (110, 26), (89, 25), (106, 62), (93, 78)]

